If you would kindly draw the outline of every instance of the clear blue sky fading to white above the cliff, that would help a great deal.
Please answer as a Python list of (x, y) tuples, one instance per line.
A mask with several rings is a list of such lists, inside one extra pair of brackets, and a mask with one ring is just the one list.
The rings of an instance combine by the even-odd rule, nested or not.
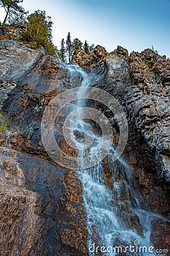
[[(24, 0), (29, 13), (45, 10), (53, 21), (53, 43), (78, 38), (108, 52), (118, 45), (129, 52), (145, 48), (170, 57), (170, 0)], [(4, 13), (0, 9), (0, 20)]]

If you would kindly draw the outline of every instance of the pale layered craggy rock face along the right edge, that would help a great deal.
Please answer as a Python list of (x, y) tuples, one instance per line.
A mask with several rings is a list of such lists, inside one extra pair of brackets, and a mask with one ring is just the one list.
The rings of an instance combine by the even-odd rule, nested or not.
[(131, 53), (129, 61), (131, 87), (126, 96), (129, 113), (148, 147), (155, 152), (159, 179), (170, 181), (170, 60), (146, 50), (142, 54)]

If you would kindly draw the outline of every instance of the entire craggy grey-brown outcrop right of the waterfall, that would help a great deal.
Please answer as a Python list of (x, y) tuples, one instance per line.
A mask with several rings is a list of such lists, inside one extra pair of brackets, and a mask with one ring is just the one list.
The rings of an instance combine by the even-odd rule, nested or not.
[[(116, 97), (126, 112), (129, 139), (125, 152), (134, 169), (135, 186), (141, 188), (152, 210), (169, 214), (169, 60), (151, 50), (133, 52), (130, 57), (122, 52), (128, 54), (118, 47), (95, 65), (93, 71), (100, 76), (95, 86)], [(105, 112), (117, 130), (112, 113), (100, 105), (97, 109)]]

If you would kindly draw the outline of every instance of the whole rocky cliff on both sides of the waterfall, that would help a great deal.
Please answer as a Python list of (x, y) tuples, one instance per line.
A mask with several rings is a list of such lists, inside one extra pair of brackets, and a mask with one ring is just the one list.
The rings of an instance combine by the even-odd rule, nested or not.
[[(80, 79), (74, 81), (66, 64), (46, 55), (44, 49), (35, 51), (3, 39), (0, 51), (0, 251), (5, 255), (88, 255), (82, 184), (76, 172), (52, 162), (40, 133), (49, 101), (73, 84), (79, 86)], [(170, 60), (150, 49), (129, 56), (122, 47), (107, 53), (97, 46), (92, 57), (82, 50), (75, 52), (73, 63), (99, 76), (94, 86), (121, 102), (129, 124), (124, 158), (133, 168), (134, 187), (152, 211), (169, 216)], [(117, 141), (113, 115), (98, 107), (110, 119)], [(62, 122), (61, 118), (57, 123), (58, 139)], [(63, 139), (61, 147), (65, 148)], [(108, 187), (112, 187), (110, 179), (106, 176)], [(168, 247), (168, 224), (158, 224), (159, 220), (152, 225), (152, 242), (156, 244), (162, 236)]]

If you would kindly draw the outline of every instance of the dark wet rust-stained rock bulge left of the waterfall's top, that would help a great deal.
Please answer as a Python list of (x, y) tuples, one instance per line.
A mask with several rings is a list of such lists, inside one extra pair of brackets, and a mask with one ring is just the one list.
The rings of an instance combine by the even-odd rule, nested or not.
[(46, 105), (63, 90), (70, 89), (71, 82), (64, 64), (60, 65), (52, 56), (42, 56), (9, 94), (3, 112), (12, 126), (16, 124), (19, 129), (34, 121), (40, 124)]

